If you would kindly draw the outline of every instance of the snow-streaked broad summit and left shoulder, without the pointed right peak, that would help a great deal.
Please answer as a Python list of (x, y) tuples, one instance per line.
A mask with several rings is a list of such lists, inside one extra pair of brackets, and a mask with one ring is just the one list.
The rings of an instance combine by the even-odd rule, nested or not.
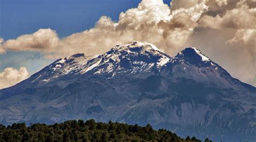
[[(84, 54), (75, 54), (58, 59), (44, 68), (32, 82), (41, 80), (45, 83), (70, 74), (85, 74), (93, 70), (94, 75), (107, 74), (113, 77), (116, 73), (143, 73), (152, 69), (160, 70), (171, 57), (147, 42), (118, 44), (109, 52), (86, 58)], [(42, 76), (46, 74), (46, 76)], [(51, 74), (51, 76), (48, 76)]]

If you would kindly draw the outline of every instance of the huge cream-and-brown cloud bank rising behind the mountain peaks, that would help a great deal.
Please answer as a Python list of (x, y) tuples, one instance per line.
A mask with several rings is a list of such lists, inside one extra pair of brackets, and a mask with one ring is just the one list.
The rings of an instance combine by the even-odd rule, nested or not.
[(255, 0), (143, 0), (120, 13), (114, 22), (103, 16), (92, 29), (59, 38), (56, 31), (35, 33), (3, 42), (4, 51), (37, 51), (45, 58), (75, 53), (100, 54), (122, 42), (147, 41), (175, 55), (198, 47), (234, 77), (256, 86)]

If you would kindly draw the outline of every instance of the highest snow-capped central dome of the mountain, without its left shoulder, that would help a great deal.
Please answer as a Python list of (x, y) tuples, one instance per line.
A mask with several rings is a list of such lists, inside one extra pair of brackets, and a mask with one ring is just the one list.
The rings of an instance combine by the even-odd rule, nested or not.
[(171, 60), (170, 56), (161, 52), (156, 46), (147, 42), (118, 44), (101, 56), (95, 66), (95, 75), (117, 73), (143, 73), (152, 69), (160, 69)]

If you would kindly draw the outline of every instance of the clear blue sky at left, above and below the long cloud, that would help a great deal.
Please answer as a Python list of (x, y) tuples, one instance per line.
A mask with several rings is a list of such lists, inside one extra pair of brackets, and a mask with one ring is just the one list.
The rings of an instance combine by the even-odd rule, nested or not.
[[(135, 0), (0, 0), (0, 37), (15, 39), (40, 28), (56, 30), (59, 37), (82, 32), (95, 25), (101, 16), (118, 20), (119, 13), (136, 8)], [(165, 1), (170, 3), (170, 1)], [(43, 59), (37, 52), (0, 54), (0, 72), (6, 67), (26, 67), (35, 73), (53, 60)]]

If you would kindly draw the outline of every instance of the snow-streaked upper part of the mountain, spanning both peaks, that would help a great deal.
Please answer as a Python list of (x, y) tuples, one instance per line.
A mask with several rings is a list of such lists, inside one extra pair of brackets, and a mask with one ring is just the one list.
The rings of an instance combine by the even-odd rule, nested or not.
[[(163, 67), (181, 63), (183, 70), (189, 65), (211, 67), (218, 70), (218, 65), (207, 58), (199, 49), (186, 48), (174, 58), (147, 42), (118, 44), (102, 55), (85, 56), (75, 54), (58, 59), (37, 73), (34, 81), (48, 83), (67, 75), (91, 74), (111, 79), (116, 75), (160, 72)], [(185, 63), (185, 64), (183, 64)]]

